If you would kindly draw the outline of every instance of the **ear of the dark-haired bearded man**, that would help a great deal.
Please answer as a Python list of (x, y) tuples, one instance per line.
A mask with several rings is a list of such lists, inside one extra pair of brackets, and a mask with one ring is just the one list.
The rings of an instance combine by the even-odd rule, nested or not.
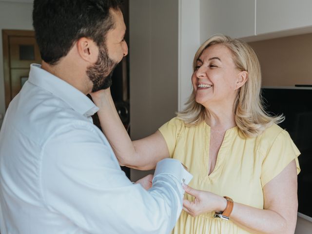
[(78, 54), (82, 59), (90, 63), (95, 63), (98, 59), (98, 46), (88, 38), (80, 38), (76, 42)]

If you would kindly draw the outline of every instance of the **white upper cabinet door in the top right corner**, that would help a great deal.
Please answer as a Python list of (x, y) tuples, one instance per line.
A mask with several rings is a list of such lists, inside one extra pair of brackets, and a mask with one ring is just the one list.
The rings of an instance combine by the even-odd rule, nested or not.
[(312, 0), (256, 0), (256, 34), (312, 26)]

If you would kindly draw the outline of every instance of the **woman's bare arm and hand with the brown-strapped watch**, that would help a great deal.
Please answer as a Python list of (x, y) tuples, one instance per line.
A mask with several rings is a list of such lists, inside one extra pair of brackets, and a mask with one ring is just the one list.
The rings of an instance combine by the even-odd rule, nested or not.
[[(226, 199), (210, 192), (185, 187), (195, 196), (194, 202), (184, 200), (183, 209), (196, 216), (223, 211)], [(297, 221), (297, 169), (295, 160), (263, 187), (264, 210), (234, 202), (230, 219), (255, 234), (293, 234)]]

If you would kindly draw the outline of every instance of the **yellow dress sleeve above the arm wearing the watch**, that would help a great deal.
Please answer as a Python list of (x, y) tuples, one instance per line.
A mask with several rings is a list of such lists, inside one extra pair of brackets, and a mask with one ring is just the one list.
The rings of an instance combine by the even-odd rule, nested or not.
[(262, 188), (275, 176), (281, 173), (286, 166), (295, 159), (297, 174), (300, 172), (298, 156), (300, 152), (292, 141), (288, 132), (283, 130), (275, 138), (271, 148), (267, 152), (261, 169)]

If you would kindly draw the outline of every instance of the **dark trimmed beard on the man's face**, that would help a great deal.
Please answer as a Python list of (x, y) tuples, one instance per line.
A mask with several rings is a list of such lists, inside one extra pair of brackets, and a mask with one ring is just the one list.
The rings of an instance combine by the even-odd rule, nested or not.
[(105, 46), (99, 47), (97, 62), (87, 68), (87, 76), (93, 83), (92, 93), (109, 88), (112, 83), (112, 75), (117, 62), (110, 59)]

